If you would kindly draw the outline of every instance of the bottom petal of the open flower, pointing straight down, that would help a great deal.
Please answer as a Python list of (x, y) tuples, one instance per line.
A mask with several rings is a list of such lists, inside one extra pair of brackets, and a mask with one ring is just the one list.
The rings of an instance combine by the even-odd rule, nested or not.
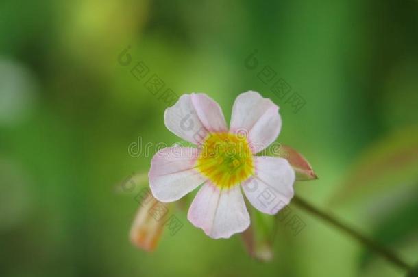
[(206, 183), (190, 205), (187, 218), (213, 239), (231, 237), (249, 226), (249, 214), (239, 185), (219, 189)]

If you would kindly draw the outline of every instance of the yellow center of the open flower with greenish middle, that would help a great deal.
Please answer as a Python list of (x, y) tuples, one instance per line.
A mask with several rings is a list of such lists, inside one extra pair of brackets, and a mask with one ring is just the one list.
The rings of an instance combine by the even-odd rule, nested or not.
[(211, 133), (201, 145), (196, 168), (214, 185), (228, 188), (254, 174), (247, 138), (232, 133)]

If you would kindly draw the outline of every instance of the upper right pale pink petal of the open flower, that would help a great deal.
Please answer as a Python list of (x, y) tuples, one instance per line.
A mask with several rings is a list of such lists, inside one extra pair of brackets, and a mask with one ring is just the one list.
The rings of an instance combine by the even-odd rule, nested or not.
[(269, 146), (280, 133), (282, 119), (279, 107), (258, 92), (240, 94), (232, 107), (230, 131), (246, 133), (253, 153)]

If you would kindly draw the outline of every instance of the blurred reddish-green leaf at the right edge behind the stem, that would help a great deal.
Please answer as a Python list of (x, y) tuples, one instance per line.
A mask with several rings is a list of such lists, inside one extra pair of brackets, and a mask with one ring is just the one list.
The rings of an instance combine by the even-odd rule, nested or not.
[(418, 181), (418, 128), (404, 129), (365, 150), (331, 204), (367, 199)]

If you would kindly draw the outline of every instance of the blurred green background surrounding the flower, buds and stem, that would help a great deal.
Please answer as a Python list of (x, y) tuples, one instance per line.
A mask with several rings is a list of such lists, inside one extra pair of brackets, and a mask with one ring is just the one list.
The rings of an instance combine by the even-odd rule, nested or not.
[[(297, 194), (418, 262), (418, 1), (225, 2), (1, 1), (0, 276), (404, 276), (292, 205), (306, 228), (278, 226), (269, 263), (239, 235), (206, 237), (186, 211), (155, 252), (132, 246), (138, 203), (117, 187), (155, 149), (128, 146), (178, 141), (151, 74), (178, 96), (205, 92), (227, 120), (241, 92), (271, 98), (278, 142), (319, 175)], [(297, 113), (271, 91), (278, 78), (306, 102)]]

